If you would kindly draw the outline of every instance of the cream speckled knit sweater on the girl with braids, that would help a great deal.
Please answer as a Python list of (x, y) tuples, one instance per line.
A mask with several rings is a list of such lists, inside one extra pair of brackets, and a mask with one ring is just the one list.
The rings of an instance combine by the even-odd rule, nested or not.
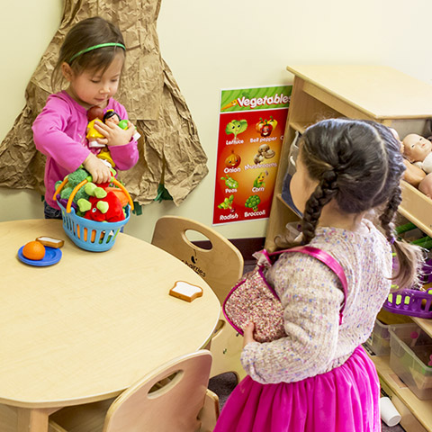
[(392, 252), (383, 234), (364, 220), (366, 234), (318, 228), (311, 246), (335, 257), (347, 276), (348, 295), (328, 266), (300, 253), (282, 254), (267, 271), (284, 306), (286, 338), (247, 344), (241, 363), (258, 383), (293, 383), (343, 365), (374, 329), (391, 287)]

